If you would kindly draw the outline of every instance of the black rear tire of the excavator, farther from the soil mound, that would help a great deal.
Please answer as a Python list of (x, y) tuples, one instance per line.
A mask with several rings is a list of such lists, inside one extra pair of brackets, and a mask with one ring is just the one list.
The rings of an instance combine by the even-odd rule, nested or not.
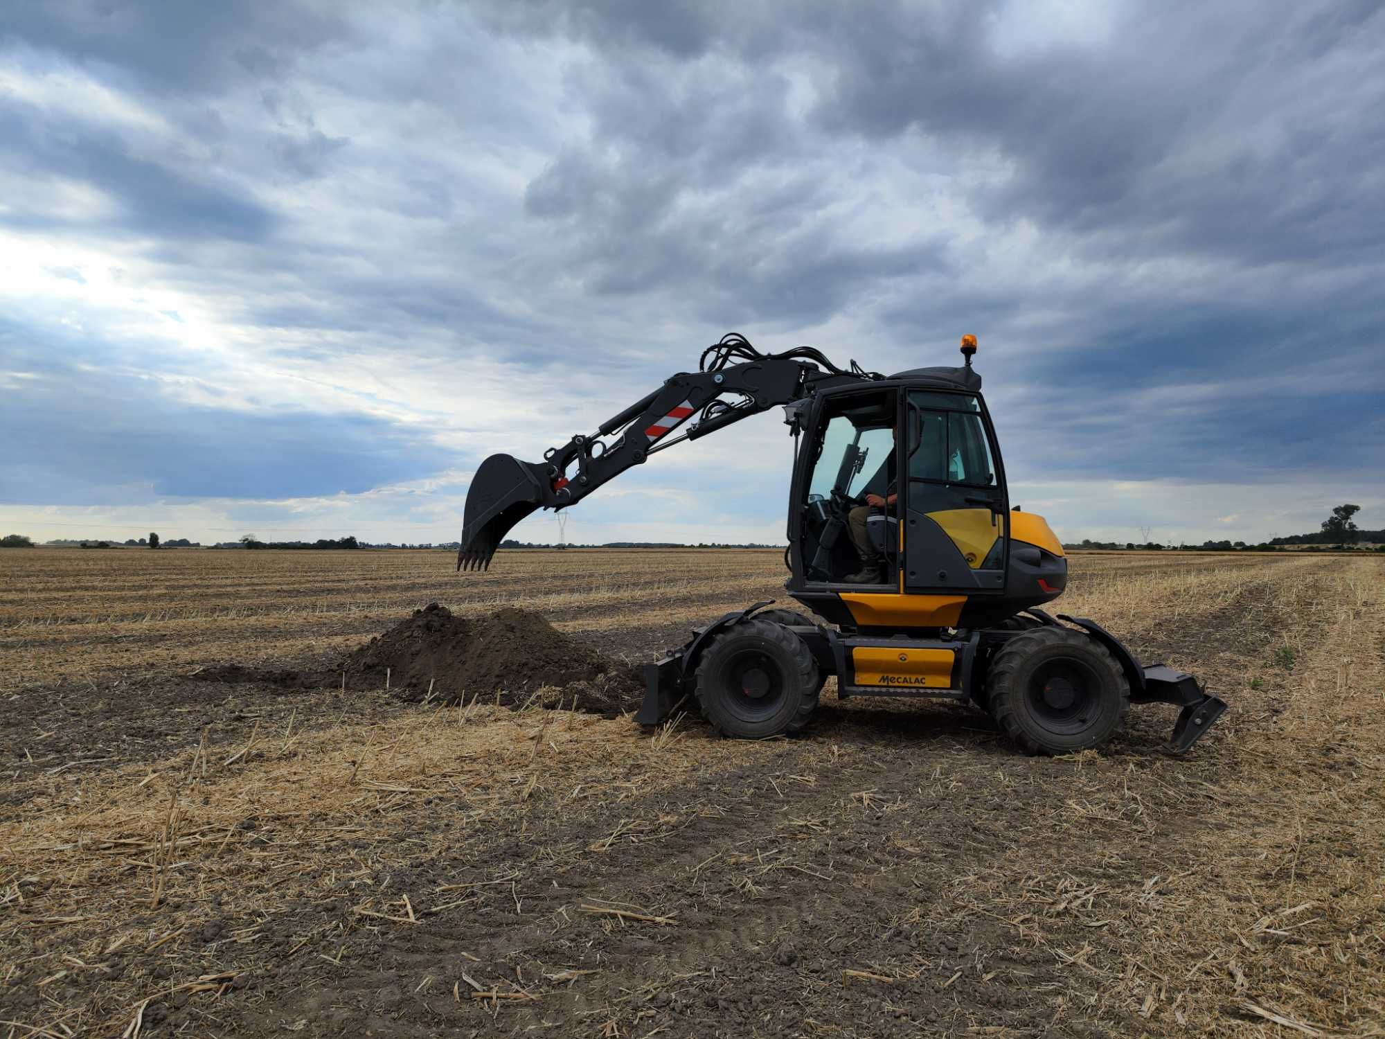
[(1028, 754), (1072, 754), (1120, 727), (1130, 683), (1096, 639), (1044, 625), (990, 658), (986, 700), (996, 725)]

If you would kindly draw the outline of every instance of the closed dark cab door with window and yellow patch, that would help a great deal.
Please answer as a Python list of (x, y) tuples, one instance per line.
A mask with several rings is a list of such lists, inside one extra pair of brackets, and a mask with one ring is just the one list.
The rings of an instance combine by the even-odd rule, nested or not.
[(1001, 593), (1008, 499), (985, 405), (972, 393), (911, 389), (900, 406), (906, 590)]

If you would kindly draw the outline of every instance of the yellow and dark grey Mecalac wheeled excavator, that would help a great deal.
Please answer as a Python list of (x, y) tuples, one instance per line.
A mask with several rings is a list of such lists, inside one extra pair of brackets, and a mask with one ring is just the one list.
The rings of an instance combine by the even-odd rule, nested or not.
[(1191, 675), (1141, 665), (1094, 621), (1040, 608), (1062, 594), (1068, 561), (1043, 517), (1010, 506), (975, 352), (967, 335), (961, 367), (882, 375), (726, 335), (698, 371), (542, 463), (486, 459), (457, 568), (489, 568), (536, 508), (566, 508), (656, 452), (783, 406), (795, 447), (784, 587), (823, 623), (770, 600), (695, 629), (645, 665), (637, 722), (658, 725), (691, 698), (727, 736), (792, 733), (835, 677), (839, 698), (975, 704), (1030, 754), (1101, 745), (1132, 702), (1176, 704), (1170, 745), (1188, 749), (1224, 702)]

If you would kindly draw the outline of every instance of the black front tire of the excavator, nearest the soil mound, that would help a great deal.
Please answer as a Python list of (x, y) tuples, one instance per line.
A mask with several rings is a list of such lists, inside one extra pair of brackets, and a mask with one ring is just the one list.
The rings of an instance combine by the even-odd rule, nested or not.
[(756, 615), (713, 636), (697, 664), (694, 689), (713, 729), (763, 740), (807, 725), (819, 684), (817, 662), (803, 640)]

